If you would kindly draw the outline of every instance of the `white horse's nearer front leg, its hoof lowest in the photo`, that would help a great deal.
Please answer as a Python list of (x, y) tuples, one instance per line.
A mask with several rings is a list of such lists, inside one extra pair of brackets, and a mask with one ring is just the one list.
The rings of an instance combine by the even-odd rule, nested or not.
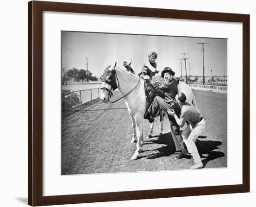
[(137, 148), (135, 150), (134, 155), (131, 157), (132, 160), (135, 160), (138, 158), (139, 153), (142, 151), (142, 144), (143, 144), (143, 133), (142, 133), (142, 120), (143, 120), (143, 114), (135, 115), (135, 121), (136, 121), (136, 134), (137, 134)]

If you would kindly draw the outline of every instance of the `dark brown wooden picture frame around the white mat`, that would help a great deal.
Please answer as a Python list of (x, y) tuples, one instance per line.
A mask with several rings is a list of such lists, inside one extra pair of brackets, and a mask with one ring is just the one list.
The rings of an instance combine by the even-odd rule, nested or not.
[[(243, 23), (243, 184), (127, 192), (43, 196), (43, 11), (194, 19)], [(249, 15), (170, 9), (28, 2), (28, 204), (31, 206), (124, 201), (249, 192)]]

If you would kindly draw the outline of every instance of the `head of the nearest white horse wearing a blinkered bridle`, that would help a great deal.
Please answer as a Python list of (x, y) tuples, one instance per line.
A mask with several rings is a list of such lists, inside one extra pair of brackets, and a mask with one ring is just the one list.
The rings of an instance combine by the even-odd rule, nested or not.
[(103, 102), (108, 102), (109, 98), (113, 96), (112, 90), (115, 91), (115, 89), (118, 87), (116, 82), (115, 66), (111, 67), (111, 65), (108, 65), (101, 76), (101, 100)]

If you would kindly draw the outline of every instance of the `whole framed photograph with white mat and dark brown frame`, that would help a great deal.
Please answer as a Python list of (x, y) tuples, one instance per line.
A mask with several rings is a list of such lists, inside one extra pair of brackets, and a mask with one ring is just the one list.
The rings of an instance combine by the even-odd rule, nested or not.
[(249, 192), (248, 14), (31, 1), (28, 52), (29, 205)]

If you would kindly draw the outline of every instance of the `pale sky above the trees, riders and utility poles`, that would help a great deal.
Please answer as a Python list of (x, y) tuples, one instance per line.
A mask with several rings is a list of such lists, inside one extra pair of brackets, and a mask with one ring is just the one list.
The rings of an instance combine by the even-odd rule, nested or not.
[[(111, 34), (93, 32), (61, 32), (61, 67), (64, 70), (86, 69), (100, 77), (108, 65), (122, 65), (132, 60), (135, 73), (142, 70), (148, 53), (155, 51), (157, 69), (171, 67), (175, 76), (181, 76), (181, 58), (186, 53), (187, 75), (202, 76), (202, 44), (204, 45), (205, 76), (227, 75), (227, 39), (209, 39), (193, 37), (172, 37), (134, 34)], [(182, 76), (185, 75), (185, 63), (182, 60)]]

